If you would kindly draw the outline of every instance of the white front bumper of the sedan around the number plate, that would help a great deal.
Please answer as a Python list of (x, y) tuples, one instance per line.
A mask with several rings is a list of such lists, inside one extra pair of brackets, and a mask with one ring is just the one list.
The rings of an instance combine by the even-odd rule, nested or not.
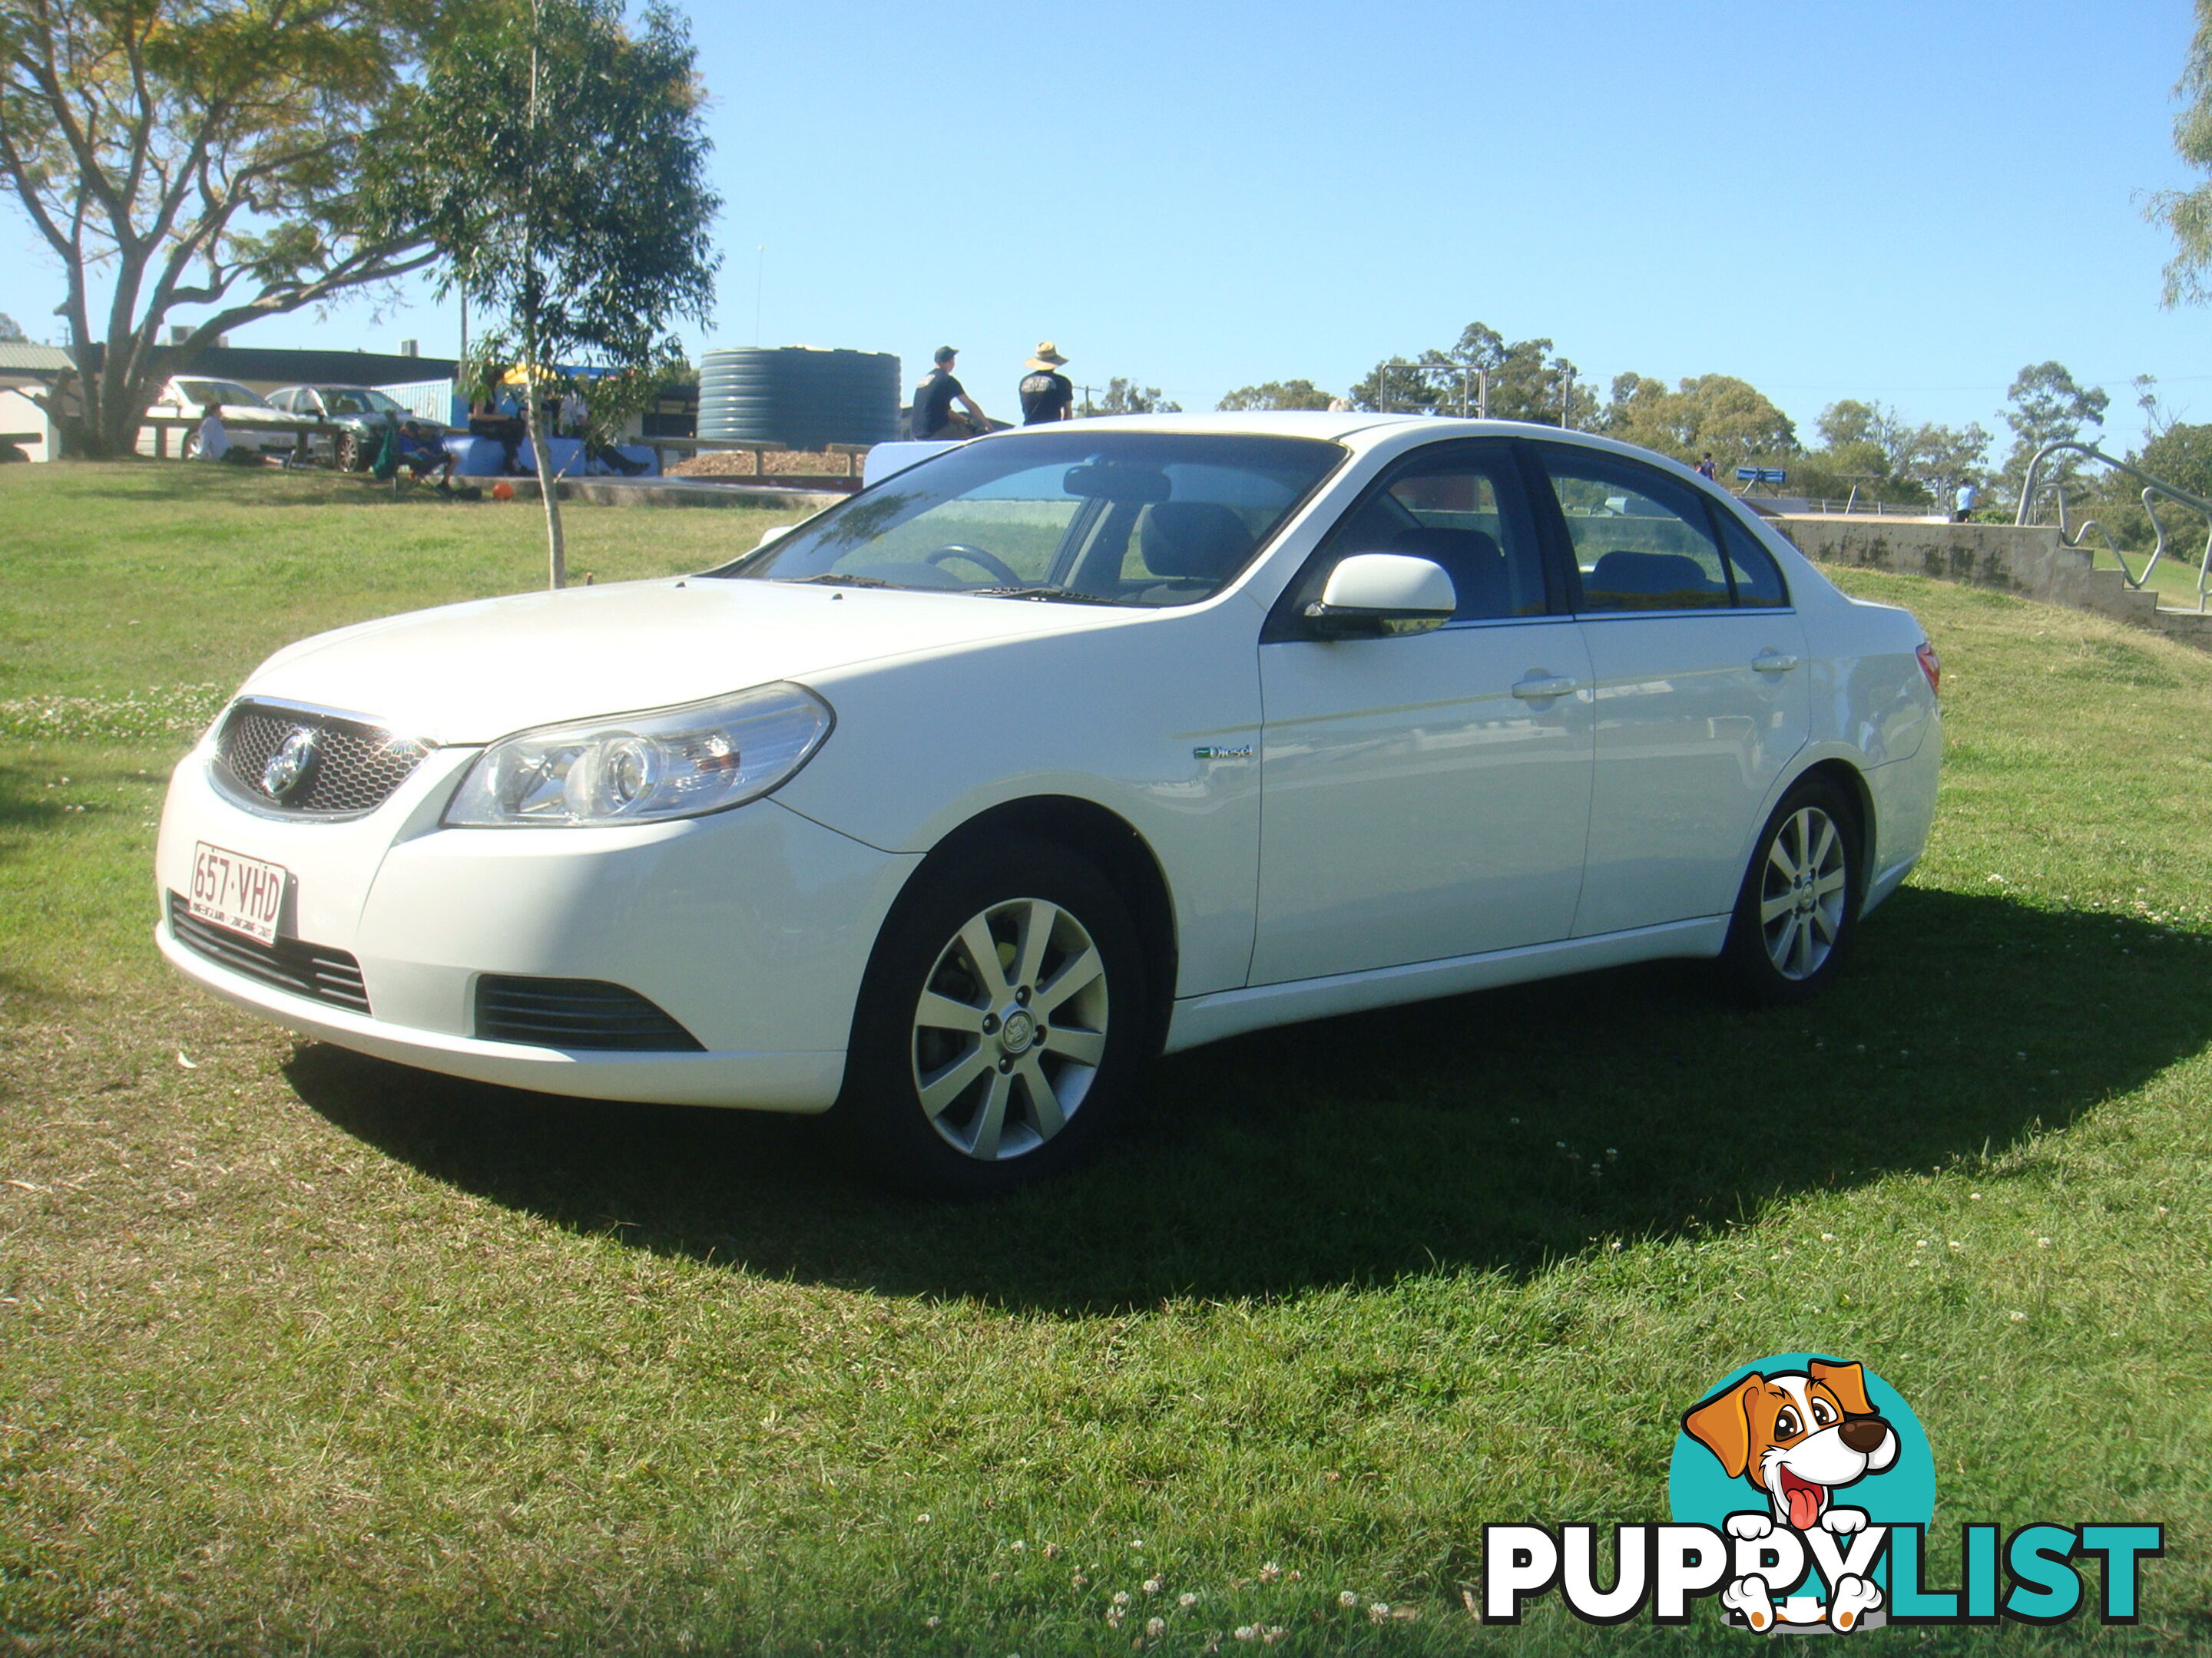
[[(867, 955), (920, 858), (774, 800), (626, 829), (445, 829), (476, 754), (434, 749), (376, 811), (314, 822), (232, 800), (204, 743), (161, 816), (161, 953), (288, 1030), (425, 1070), (586, 1099), (827, 1110)], [(334, 999), (195, 946), (170, 906), (190, 893), (199, 842), (283, 867), (279, 942), (352, 957), (358, 988)], [(484, 975), (622, 986), (701, 1052), (484, 1039)]]

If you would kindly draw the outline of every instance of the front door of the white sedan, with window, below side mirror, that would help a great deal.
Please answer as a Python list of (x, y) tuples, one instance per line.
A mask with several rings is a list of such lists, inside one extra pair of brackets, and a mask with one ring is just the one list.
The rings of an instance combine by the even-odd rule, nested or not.
[[(1442, 564), (1458, 612), (1427, 632), (1312, 637), (1303, 610), (1354, 553)], [(1396, 462), (1292, 581), (1259, 657), (1254, 984), (1568, 935), (1590, 665), (1511, 444)]]

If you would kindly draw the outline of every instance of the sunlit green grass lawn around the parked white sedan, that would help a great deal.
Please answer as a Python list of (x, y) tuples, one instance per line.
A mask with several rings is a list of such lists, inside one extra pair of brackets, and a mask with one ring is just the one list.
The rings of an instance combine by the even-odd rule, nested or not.
[[(575, 506), (571, 564), (768, 522)], [(931, 1207), (805, 1125), (414, 1074), (155, 957), (215, 701), (533, 586), (538, 537), (0, 469), (13, 1649), (1752, 1651), (1712, 1607), (1491, 1629), (1462, 1585), (1484, 1521), (1666, 1519), (1681, 1410), (1796, 1349), (1927, 1426), (1936, 1585), (1966, 1519), (2166, 1523), (2139, 1627), (1867, 1640), (2212, 1647), (2212, 657), (1847, 573), (1942, 650), (1949, 765), (1823, 1001), (1677, 964), (1263, 1032), (1159, 1063), (1082, 1176)]]

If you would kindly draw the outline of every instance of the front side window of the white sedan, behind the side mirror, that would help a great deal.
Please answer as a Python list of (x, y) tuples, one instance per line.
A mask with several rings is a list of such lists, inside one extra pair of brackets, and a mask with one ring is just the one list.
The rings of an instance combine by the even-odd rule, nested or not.
[(1460, 601), (1453, 621), (1546, 610), (1535, 520), (1511, 453), (1498, 447), (1438, 444), (1402, 460), (1329, 533), (1301, 579), (1298, 604), (1318, 599), (1329, 570), (1354, 553), (1409, 553), (1440, 564)]

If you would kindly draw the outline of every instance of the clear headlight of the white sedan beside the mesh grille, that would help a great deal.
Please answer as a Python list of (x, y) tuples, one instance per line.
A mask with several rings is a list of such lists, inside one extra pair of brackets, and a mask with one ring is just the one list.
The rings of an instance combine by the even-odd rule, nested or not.
[(726, 811), (781, 787), (830, 736), (803, 685), (518, 732), (476, 756), (453, 829), (597, 829)]

